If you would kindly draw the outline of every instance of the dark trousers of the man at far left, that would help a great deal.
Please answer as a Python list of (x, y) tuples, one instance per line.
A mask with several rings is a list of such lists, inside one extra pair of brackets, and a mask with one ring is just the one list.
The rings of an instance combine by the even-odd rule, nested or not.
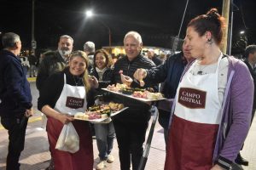
[(24, 150), (27, 118), (21, 117), (1, 117), (1, 123), (9, 133), (8, 156), (6, 160), (6, 170), (20, 169), (20, 153)]

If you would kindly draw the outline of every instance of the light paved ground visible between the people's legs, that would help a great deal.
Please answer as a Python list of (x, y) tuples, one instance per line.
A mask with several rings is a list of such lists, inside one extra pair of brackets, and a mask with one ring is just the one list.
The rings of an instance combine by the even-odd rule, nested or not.
[[(31, 79), (33, 81), (33, 79)], [(37, 107), (38, 91), (35, 88), (35, 83), (31, 82), (33, 104)], [(8, 133), (0, 124), (0, 170), (5, 169), (5, 159), (8, 147)], [(148, 135), (147, 135), (148, 136)], [(244, 149), (241, 155), (249, 161), (249, 167), (243, 167), (245, 170), (256, 170), (256, 119), (248, 133)], [(95, 166), (99, 161), (96, 148), (96, 140), (93, 140)], [(104, 170), (118, 170), (118, 145), (114, 140), (113, 156), (116, 160), (107, 164)], [(151, 149), (148, 155), (148, 162), (145, 167), (146, 170), (163, 170), (165, 161), (165, 141), (163, 138), (162, 128), (156, 124), (154, 128), (154, 137)], [(26, 144), (25, 150), (20, 156), (21, 170), (42, 170), (49, 165), (49, 144), (45, 132), (45, 122), (42, 120), (40, 112), (36, 112), (35, 116), (31, 117), (26, 131)]]

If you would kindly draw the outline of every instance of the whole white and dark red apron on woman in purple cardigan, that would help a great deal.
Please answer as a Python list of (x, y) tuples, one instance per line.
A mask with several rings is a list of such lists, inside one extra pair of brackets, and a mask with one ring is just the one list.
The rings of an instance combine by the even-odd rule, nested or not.
[(220, 123), (218, 59), (213, 73), (194, 75), (191, 65), (177, 88), (165, 170), (209, 170)]

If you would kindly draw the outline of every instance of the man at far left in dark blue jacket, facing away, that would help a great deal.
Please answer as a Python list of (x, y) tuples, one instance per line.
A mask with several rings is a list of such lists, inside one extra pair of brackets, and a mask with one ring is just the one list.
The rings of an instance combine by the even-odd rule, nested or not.
[(24, 150), (26, 125), (32, 116), (32, 95), (26, 71), (18, 57), (20, 36), (8, 32), (2, 37), (0, 52), (0, 116), (1, 123), (9, 133), (9, 150), (6, 169), (20, 169), (20, 153)]

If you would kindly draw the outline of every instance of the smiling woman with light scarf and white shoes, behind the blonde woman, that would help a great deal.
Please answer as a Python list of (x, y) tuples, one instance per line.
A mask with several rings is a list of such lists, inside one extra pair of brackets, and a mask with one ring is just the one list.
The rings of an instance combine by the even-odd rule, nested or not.
[[(99, 88), (96, 89), (96, 95), (102, 95), (104, 92), (101, 88), (107, 88), (111, 82), (113, 75), (112, 58), (104, 49), (96, 50), (94, 54), (94, 65), (90, 75), (95, 76), (99, 81)], [(96, 103), (99, 99), (96, 99)], [(111, 119), (110, 119), (111, 120)], [(113, 149), (113, 139), (115, 137), (113, 122), (96, 123), (94, 124), (96, 133), (96, 142), (99, 150), (100, 161), (96, 169), (105, 167), (106, 161), (112, 163), (114, 158), (110, 155)]]

